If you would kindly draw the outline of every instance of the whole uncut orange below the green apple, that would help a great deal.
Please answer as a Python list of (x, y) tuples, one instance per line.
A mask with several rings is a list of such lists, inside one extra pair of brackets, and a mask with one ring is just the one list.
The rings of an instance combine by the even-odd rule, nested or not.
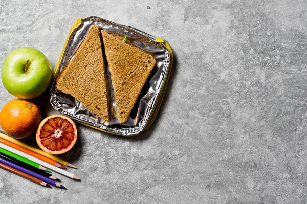
[(1, 128), (16, 139), (29, 137), (40, 121), (41, 113), (37, 105), (23, 99), (9, 101), (0, 112)]

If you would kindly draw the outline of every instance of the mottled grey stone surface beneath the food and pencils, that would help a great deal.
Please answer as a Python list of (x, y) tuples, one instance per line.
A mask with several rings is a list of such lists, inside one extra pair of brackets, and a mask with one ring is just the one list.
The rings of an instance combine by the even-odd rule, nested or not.
[[(1, 203), (306, 203), (307, 6), (302, 0), (0, 0), (0, 62), (53, 67), (73, 22), (96, 15), (169, 41), (156, 123), (136, 138), (78, 125), (81, 182), (47, 189), (0, 169)], [(13, 97), (0, 83), (0, 106)], [(47, 114), (54, 114), (49, 105)]]

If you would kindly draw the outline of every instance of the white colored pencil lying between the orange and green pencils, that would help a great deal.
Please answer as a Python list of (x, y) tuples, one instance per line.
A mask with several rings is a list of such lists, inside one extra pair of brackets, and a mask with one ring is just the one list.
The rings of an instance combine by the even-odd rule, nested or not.
[(18, 154), (18, 155), (23, 156), (25, 158), (28, 158), (29, 160), (31, 160), (33, 162), (36, 162), (36, 163), (38, 163), (38, 164), (40, 164), (40, 165), (42, 165), (44, 167), (47, 167), (48, 169), (51, 169), (51, 170), (53, 170), (53, 171), (55, 171), (57, 173), (60, 173), (60, 174), (62, 174), (64, 176), (67, 176), (67, 177), (72, 178), (72, 179), (80, 180), (80, 178), (78, 178), (73, 173), (70, 173), (70, 172), (65, 171), (63, 169), (60, 169), (60, 168), (57, 168), (57, 167), (55, 167), (55, 166), (53, 166), (51, 164), (48, 164), (47, 162), (38, 160), (38, 158), (35, 158), (34, 156), (28, 155), (28, 154), (26, 154), (26, 153), (24, 153), (22, 151), (19, 151), (17, 149), (14, 149), (14, 148), (9, 147), (9, 146), (7, 146), (5, 144), (2, 144), (2, 143), (0, 143), (0, 147), (6, 149), (8, 151), (14, 152), (15, 154)]

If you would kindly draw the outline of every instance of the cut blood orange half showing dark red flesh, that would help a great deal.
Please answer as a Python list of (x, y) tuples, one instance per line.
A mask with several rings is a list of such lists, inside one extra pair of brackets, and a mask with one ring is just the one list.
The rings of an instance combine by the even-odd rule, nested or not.
[(77, 140), (77, 128), (68, 117), (52, 115), (43, 119), (36, 132), (38, 146), (50, 154), (69, 151)]

